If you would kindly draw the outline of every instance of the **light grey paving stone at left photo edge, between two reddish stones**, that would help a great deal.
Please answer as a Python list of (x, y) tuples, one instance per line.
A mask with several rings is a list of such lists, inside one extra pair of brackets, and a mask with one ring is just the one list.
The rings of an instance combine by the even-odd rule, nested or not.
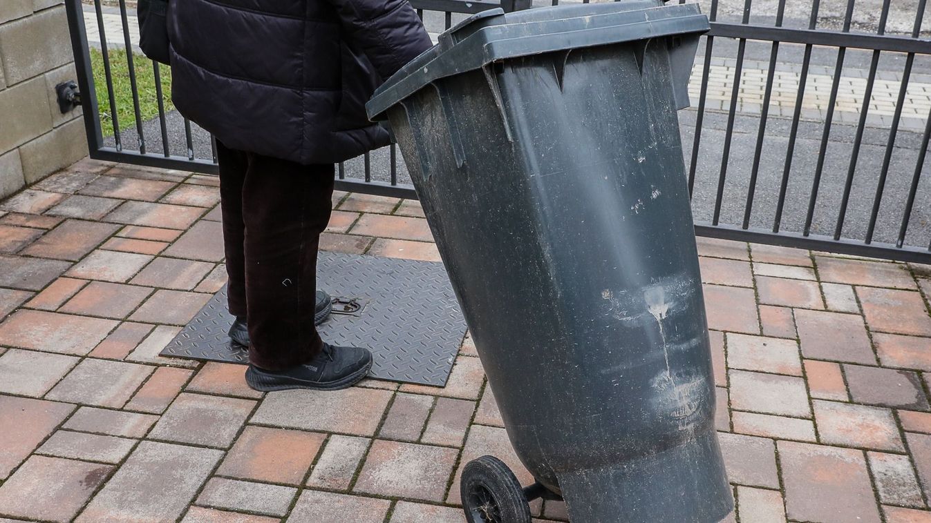
[(77, 361), (74, 356), (11, 348), (0, 356), (0, 392), (40, 398)]

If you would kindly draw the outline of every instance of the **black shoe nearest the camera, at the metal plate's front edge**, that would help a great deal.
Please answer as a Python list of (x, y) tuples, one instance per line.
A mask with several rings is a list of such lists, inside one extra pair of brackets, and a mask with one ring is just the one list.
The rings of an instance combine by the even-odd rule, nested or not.
[(250, 364), (246, 370), (246, 383), (263, 392), (289, 388), (338, 390), (358, 383), (369, 369), (371, 352), (368, 350), (323, 344), (323, 350), (316, 358), (284, 371), (273, 373)]

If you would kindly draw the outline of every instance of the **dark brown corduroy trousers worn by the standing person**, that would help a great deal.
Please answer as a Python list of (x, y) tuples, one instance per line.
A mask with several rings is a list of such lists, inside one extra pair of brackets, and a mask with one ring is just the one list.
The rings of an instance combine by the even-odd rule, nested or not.
[(302, 165), (217, 142), (229, 311), (247, 320), (253, 365), (277, 371), (321, 350), (317, 247), (330, 221), (333, 165)]

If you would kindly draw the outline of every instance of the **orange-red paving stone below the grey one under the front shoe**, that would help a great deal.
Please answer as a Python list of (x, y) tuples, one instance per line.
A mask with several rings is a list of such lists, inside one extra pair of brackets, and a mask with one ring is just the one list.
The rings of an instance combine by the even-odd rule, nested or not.
[(300, 485), (325, 438), (313, 432), (249, 425), (217, 474)]

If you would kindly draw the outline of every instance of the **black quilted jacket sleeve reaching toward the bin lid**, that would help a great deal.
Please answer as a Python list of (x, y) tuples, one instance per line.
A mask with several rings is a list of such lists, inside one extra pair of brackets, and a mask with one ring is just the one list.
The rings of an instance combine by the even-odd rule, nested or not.
[(327, 1), (336, 7), (348, 38), (384, 79), (433, 46), (408, 0)]

